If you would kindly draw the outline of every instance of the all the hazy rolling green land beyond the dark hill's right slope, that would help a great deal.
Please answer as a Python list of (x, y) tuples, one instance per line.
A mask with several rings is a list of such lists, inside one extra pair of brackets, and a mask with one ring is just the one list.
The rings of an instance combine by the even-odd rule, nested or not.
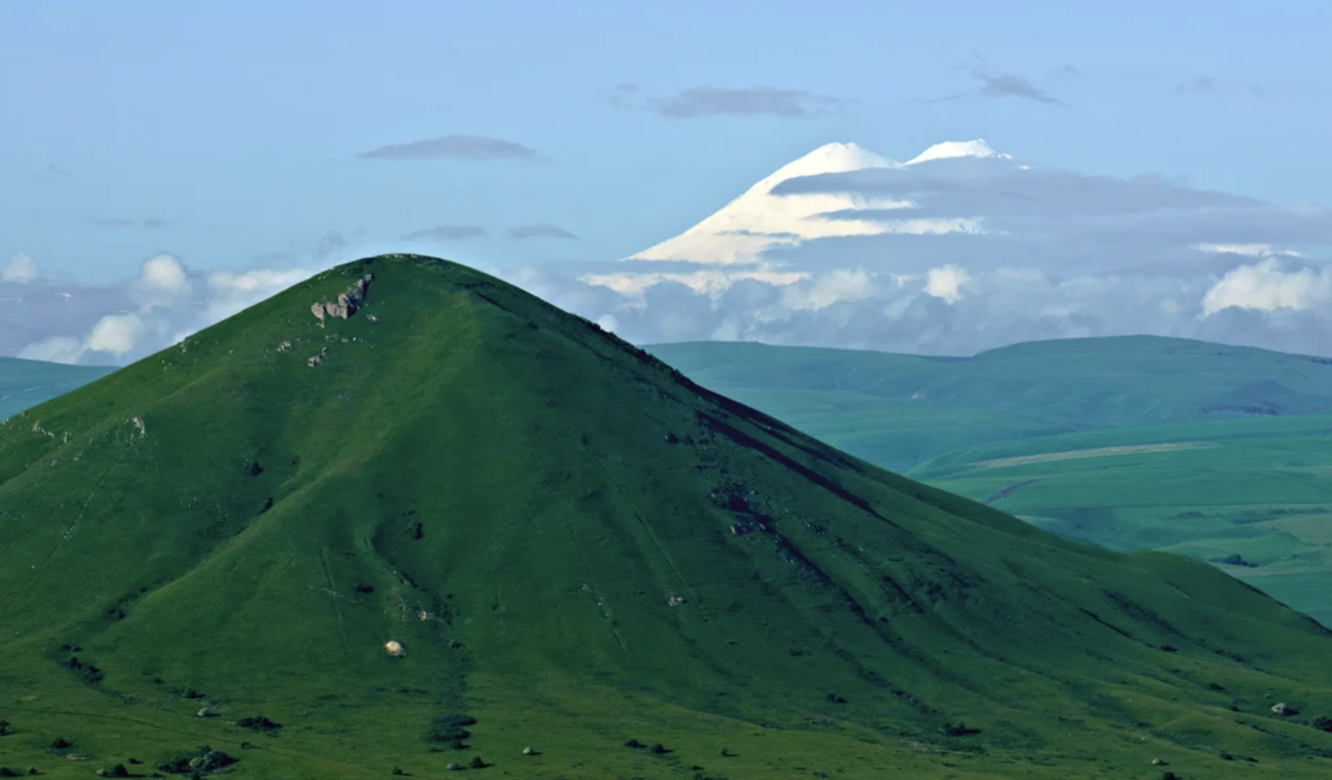
[(1152, 337), (651, 351), (874, 463), (1111, 550), (1215, 562), (1332, 626), (1332, 359)]

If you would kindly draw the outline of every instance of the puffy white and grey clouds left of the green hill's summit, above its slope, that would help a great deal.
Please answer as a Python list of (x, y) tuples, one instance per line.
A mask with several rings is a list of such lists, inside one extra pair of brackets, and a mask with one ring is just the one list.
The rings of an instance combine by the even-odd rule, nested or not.
[[(0, 311), (0, 354), (63, 363), (121, 365), (166, 347), (278, 293), (312, 269), (202, 274), (170, 254), (117, 285), (28, 286)], [(0, 297), (5, 289), (0, 286)]]

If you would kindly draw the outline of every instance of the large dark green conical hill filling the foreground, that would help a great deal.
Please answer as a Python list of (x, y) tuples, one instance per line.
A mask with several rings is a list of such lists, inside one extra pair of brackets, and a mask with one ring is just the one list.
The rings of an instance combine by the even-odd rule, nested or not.
[(1305, 616), (882, 471), (428, 258), (0, 426), (0, 765), (52, 777), (1332, 772)]

